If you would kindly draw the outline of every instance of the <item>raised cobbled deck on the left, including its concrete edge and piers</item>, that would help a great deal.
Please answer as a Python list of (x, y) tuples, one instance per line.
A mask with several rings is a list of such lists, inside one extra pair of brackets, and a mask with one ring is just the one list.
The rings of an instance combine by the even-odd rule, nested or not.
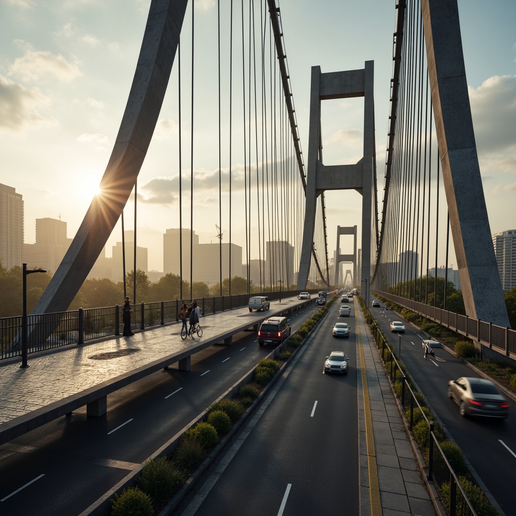
[(6, 360), (0, 364), (0, 444), (85, 405), (88, 415), (102, 415), (108, 394), (175, 362), (189, 369), (192, 354), (313, 301), (286, 298), (271, 301), (266, 312), (239, 308), (207, 315), (201, 338), (182, 340), (181, 324), (171, 324), (29, 355), (28, 368), (20, 368), (19, 357)]

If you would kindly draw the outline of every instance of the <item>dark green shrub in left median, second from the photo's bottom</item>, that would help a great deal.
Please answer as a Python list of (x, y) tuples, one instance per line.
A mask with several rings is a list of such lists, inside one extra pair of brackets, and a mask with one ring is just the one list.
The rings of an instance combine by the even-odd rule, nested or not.
[(174, 490), (185, 483), (183, 475), (166, 457), (147, 461), (136, 481), (153, 502), (172, 495)]

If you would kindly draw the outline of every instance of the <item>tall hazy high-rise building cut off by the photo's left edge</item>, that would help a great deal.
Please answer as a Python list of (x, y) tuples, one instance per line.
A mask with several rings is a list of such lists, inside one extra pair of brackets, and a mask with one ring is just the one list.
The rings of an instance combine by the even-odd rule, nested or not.
[(23, 262), (23, 198), (0, 183), (0, 260), (10, 269)]

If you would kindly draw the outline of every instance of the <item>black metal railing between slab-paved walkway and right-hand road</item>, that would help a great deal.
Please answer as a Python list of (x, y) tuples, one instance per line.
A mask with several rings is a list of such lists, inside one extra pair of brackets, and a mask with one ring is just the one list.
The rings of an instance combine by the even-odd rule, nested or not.
[[(376, 320), (370, 314), (369, 310), (367, 308), (364, 309), (364, 307), (365, 305), (362, 306), (362, 309), (364, 312), (367, 311), (369, 320), (372, 320), (371, 330), (373, 332), (375, 343), (377, 348), (381, 350), (381, 359), (384, 369), (386, 373), (388, 373), (389, 380), (391, 381), (395, 391), (396, 380), (401, 379), (400, 405), (405, 411), (409, 428), (412, 430), (414, 422), (416, 420), (420, 421), (421, 417), (423, 417), (428, 424), (428, 480), (433, 480), (434, 485), (440, 493), (442, 493), (445, 486), (449, 486), (449, 507), (447, 508), (449, 516), (477, 516), (471, 502), (460, 485), (456, 473), (446, 459), (443, 450), (433, 433), (434, 423), (428, 419), (420, 403), (417, 401), (414, 391), (407, 381), (404, 368), (401, 367), (396, 358), (392, 345), (385, 339)], [(414, 411), (418, 411), (418, 413)]]

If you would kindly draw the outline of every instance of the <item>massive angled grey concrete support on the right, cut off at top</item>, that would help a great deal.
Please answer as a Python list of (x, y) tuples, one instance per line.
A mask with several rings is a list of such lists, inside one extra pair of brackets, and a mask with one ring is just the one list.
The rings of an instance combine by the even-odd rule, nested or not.
[(423, 0), (428, 74), (466, 314), (509, 326), (478, 165), (457, 0)]

